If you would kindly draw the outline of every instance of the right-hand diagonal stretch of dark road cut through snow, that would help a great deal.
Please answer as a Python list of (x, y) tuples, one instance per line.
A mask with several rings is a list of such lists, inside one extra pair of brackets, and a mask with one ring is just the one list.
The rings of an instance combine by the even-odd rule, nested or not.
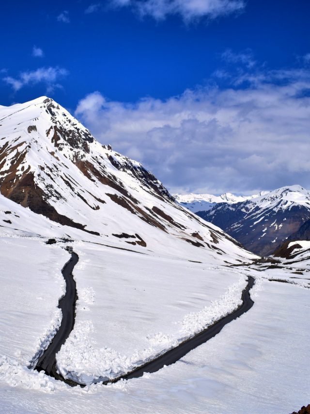
[(253, 306), (254, 302), (250, 298), (249, 290), (254, 285), (254, 278), (251, 276), (248, 276), (248, 284), (245, 287), (245, 289), (242, 291), (242, 305), (240, 305), (235, 311), (233, 311), (231, 314), (224, 316), (223, 318), (219, 319), (217, 322), (215, 322), (213, 325), (209, 326), (205, 330), (201, 331), (197, 335), (193, 336), (190, 339), (187, 339), (186, 341), (182, 342), (180, 345), (178, 345), (176, 348), (172, 348), (169, 351), (165, 352), (158, 358), (156, 358), (153, 361), (150, 361), (142, 366), (139, 366), (134, 371), (125, 374), (121, 377), (116, 378), (115, 380), (106, 381), (104, 384), (107, 384), (109, 382), (116, 382), (119, 380), (129, 380), (131, 378), (139, 378), (141, 377), (145, 372), (155, 372), (159, 369), (163, 368), (164, 365), (171, 365), (180, 360), (182, 357), (184, 357), (189, 351), (191, 351), (194, 348), (199, 347), (200, 345), (207, 342), (209, 339), (213, 338), (217, 333), (219, 333), (225, 325), (232, 322), (234, 319), (238, 318), (245, 312), (248, 312), (249, 309)]

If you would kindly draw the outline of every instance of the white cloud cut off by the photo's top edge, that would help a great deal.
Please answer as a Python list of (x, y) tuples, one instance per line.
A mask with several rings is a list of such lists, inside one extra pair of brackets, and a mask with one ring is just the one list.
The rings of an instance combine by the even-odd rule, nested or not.
[(207, 17), (210, 19), (241, 12), (244, 0), (110, 0), (112, 6), (130, 6), (141, 17), (151, 16), (164, 20), (169, 15), (179, 15), (184, 21)]

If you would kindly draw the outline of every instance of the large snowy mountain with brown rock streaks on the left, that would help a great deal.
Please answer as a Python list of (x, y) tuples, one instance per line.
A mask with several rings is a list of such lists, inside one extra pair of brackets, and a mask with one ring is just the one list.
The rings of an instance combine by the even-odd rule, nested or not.
[[(247, 255), (224, 232), (175, 203), (140, 163), (101, 145), (47, 97), (0, 108), (0, 192), (48, 218), (64, 237), (109, 238), (157, 251), (181, 244), (216, 256), (221, 246), (229, 255)], [(16, 219), (3, 224), (16, 228)], [(46, 227), (34, 229), (47, 234)]]

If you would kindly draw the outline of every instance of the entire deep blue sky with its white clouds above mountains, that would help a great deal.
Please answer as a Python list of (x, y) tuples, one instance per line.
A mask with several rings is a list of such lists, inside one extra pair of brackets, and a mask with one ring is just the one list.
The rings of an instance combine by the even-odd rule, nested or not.
[(51, 96), (171, 191), (310, 188), (309, 12), (306, 0), (6, 2), (0, 104)]

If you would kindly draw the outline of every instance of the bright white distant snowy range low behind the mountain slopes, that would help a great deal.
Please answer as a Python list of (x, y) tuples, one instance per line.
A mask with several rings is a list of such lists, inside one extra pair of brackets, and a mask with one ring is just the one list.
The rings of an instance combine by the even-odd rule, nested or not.
[(186, 207), (188, 210), (192, 211), (193, 213), (197, 213), (198, 211), (207, 211), (211, 210), (216, 204), (218, 203), (229, 203), (234, 204), (241, 201), (254, 199), (260, 196), (267, 194), (268, 191), (262, 191), (259, 194), (255, 194), (252, 196), (235, 196), (232, 193), (224, 193), (220, 196), (214, 196), (212, 194), (175, 194), (174, 197), (179, 204)]

